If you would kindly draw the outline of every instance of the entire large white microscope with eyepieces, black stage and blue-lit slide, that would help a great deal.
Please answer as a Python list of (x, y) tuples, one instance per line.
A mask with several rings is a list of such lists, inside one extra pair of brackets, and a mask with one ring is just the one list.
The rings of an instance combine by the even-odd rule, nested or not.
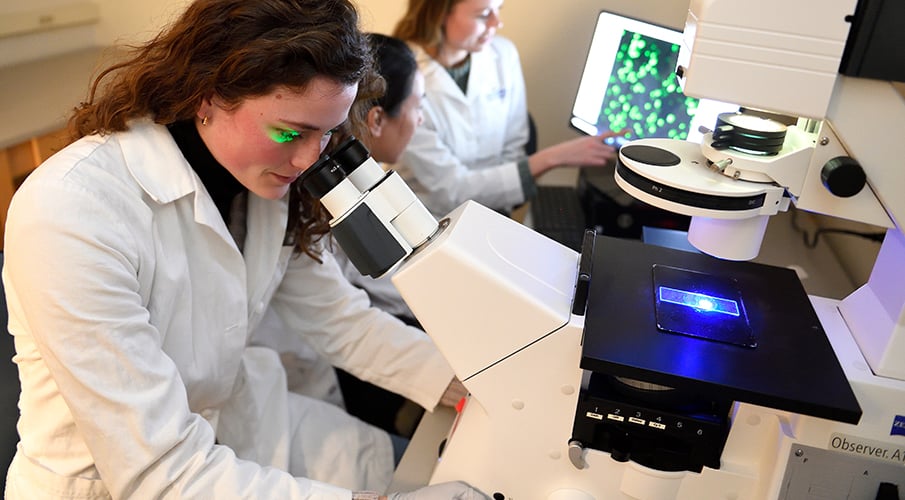
[[(902, 21), (888, 0), (691, 2), (683, 90), (741, 111), (700, 144), (627, 143), (615, 175), (690, 215), (700, 253), (593, 231), (575, 252), (475, 202), (434, 221), (392, 171), (338, 187), (368, 161), (354, 141), (306, 172), (353, 263), (392, 273), (469, 390), (430, 481), (495, 500), (905, 497), (905, 64), (883, 53)], [(368, 201), (384, 184), (399, 207)], [(889, 228), (864, 286), (808, 296), (748, 262), (793, 203)]]

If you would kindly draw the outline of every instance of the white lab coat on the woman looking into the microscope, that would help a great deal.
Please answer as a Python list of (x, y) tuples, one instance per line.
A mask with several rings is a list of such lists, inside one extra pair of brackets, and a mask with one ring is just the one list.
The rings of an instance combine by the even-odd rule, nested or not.
[(293, 475), (386, 487), (388, 436), (289, 394), (249, 331), (270, 305), (337, 365), (427, 408), (453, 372), (329, 253), (290, 258), (286, 220), (285, 199), (250, 196), (240, 253), (170, 134), (145, 121), (31, 174), (5, 235), (22, 382), (7, 498), (351, 496)]

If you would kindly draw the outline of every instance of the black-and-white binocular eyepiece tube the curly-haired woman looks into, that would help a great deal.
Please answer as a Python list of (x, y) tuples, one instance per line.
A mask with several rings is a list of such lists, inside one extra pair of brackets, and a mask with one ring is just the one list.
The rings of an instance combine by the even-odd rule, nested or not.
[(366, 276), (390, 271), (439, 228), (399, 174), (385, 172), (355, 137), (321, 155), (299, 182), (333, 217), (334, 238)]

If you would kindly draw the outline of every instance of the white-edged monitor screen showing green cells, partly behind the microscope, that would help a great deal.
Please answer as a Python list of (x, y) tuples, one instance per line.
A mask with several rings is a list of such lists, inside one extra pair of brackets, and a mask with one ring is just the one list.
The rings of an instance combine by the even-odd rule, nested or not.
[(589, 135), (626, 131), (629, 140), (699, 141), (698, 127), (738, 106), (687, 97), (675, 75), (682, 32), (601, 12), (572, 108), (571, 125)]

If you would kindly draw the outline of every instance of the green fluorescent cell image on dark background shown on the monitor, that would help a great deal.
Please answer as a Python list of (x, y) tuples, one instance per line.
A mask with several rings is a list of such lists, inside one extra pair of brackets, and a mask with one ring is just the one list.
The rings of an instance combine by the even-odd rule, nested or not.
[(632, 137), (688, 137), (698, 100), (675, 75), (679, 45), (623, 32), (598, 125)]

